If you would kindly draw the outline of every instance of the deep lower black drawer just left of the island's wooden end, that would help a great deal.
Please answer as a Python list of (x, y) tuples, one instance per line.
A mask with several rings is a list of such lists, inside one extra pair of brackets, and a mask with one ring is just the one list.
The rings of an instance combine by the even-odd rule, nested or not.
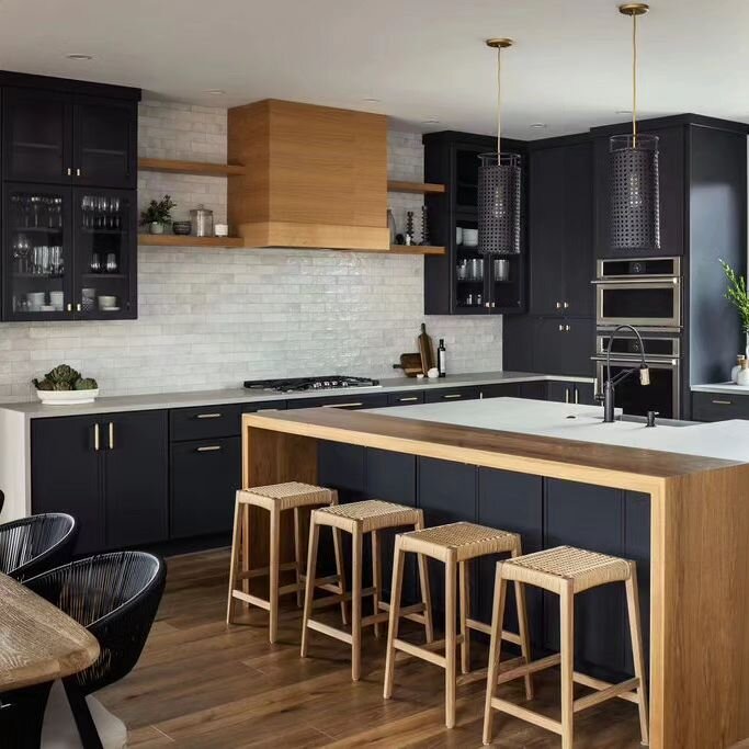
[(240, 438), (172, 444), (171, 537), (229, 533), (240, 486)]

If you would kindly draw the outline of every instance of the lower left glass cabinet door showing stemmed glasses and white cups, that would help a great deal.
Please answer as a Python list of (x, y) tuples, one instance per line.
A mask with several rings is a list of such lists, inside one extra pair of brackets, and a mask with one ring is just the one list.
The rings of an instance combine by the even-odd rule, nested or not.
[(5, 183), (4, 319), (72, 317), (70, 194), (69, 188)]

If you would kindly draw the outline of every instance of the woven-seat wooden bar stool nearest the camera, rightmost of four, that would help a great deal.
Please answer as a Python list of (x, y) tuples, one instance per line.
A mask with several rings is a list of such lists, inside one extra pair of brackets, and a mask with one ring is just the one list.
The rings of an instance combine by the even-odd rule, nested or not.
[[(499, 623), (504, 611), (508, 581), (515, 585), (532, 585), (559, 597), (560, 652), (532, 661), (526, 666), (500, 672)], [(589, 588), (624, 582), (627, 598), (629, 634), (635, 677), (619, 684), (592, 679), (574, 670), (575, 661), (575, 594)], [(495, 696), (498, 684), (520, 677), (561, 665), (561, 720), (515, 705)], [(643, 636), (639, 625), (639, 600), (637, 595), (637, 567), (634, 561), (587, 552), (571, 546), (558, 546), (536, 554), (500, 561), (495, 577), (495, 601), (491, 621), (491, 647), (489, 650), (489, 677), (487, 679), (484, 711), (484, 744), (491, 742), (492, 711), (508, 713), (561, 736), (563, 749), (572, 749), (572, 718), (575, 713), (598, 705), (612, 697), (621, 697), (637, 704), (643, 744), (648, 742), (647, 693), (643, 659)], [(595, 690), (591, 694), (575, 699), (575, 682)]]

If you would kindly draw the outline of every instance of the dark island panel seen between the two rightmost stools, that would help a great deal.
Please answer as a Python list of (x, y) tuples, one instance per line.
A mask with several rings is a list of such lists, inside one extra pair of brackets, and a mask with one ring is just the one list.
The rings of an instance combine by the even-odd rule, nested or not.
[[(520, 533), (523, 554), (543, 548), (543, 479), (508, 470), (478, 469), (478, 522), (480, 525)], [(503, 557), (483, 557), (477, 563), (479, 621), (491, 623), (493, 583), (497, 561)], [(525, 587), (531, 645), (534, 650), (543, 646), (542, 591)], [(504, 606), (504, 627), (518, 629), (514, 587), (508, 587)]]

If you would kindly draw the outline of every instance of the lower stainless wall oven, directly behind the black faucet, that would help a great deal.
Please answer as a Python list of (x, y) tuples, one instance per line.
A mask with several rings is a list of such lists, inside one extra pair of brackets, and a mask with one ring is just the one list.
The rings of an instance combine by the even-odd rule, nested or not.
[[(595, 337), (597, 393), (603, 393), (606, 379), (606, 345), (611, 330), (599, 330)], [(658, 411), (665, 419), (681, 417), (681, 341), (668, 332), (643, 332), (645, 360), (650, 370), (650, 384), (643, 386), (635, 375), (616, 385), (616, 406), (631, 416)], [(620, 330), (611, 350), (611, 376), (639, 366), (639, 343), (632, 331)]]

